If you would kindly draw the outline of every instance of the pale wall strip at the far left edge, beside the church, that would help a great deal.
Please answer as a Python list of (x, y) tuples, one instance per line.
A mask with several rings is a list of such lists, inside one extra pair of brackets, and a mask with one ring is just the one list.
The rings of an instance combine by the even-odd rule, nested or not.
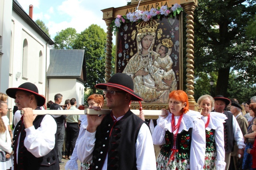
[(9, 84), (10, 37), (12, 0), (0, 0), (0, 92), (6, 93)]

